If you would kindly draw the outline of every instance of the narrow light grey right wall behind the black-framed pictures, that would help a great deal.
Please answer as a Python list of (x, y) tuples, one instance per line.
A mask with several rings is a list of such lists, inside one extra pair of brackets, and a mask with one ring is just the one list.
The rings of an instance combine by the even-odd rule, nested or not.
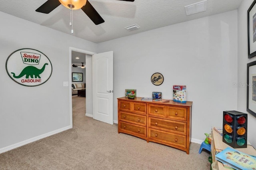
[[(244, 0), (238, 8), (238, 83), (244, 85), (247, 83), (247, 63), (256, 60), (256, 57), (248, 59), (247, 10), (252, 2)], [(238, 111), (248, 114), (248, 141), (256, 147), (256, 117), (246, 112), (246, 90), (246, 86), (238, 88)]]

